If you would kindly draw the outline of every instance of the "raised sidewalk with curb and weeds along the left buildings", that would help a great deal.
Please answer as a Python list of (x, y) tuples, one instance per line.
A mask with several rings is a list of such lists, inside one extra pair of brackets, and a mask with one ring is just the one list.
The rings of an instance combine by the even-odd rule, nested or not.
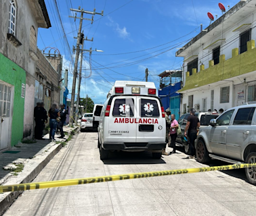
[[(49, 140), (36, 140), (36, 143), (20, 143), (8, 151), (0, 153), (0, 185), (21, 184), (31, 182), (49, 161), (60, 151), (63, 142), (70, 134), (77, 131), (78, 126), (69, 128), (64, 126), (65, 138), (56, 136), (56, 142)], [(0, 194), (0, 215), (12, 205), (20, 192), (7, 192)]]

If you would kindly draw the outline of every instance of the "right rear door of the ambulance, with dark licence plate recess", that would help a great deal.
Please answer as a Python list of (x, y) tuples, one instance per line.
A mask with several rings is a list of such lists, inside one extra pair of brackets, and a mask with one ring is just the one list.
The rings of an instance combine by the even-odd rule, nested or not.
[(154, 97), (137, 97), (138, 119), (136, 142), (163, 142), (165, 119), (161, 103)]

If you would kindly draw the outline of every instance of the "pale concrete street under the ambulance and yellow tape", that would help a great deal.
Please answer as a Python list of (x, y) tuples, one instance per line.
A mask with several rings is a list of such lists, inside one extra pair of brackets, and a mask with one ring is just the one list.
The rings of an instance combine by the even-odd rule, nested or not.
[[(205, 166), (180, 151), (159, 160), (148, 153), (119, 153), (102, 162), (97, 141), (97, 133), (74, 136), (35, 182)], [(244, 179), (244, 170), (211, 171), (31, 190), (4, 215), (254, 215), (256, 187)]]

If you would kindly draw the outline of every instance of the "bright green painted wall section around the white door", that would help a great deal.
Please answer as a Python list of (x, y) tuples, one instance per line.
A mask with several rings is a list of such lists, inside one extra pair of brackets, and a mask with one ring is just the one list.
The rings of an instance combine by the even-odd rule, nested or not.
[(26, 72), (0, 53), (0, 80), (14, 86), (12, 117), (12, 146), (14, 146), (23, 137), (24, 98), (21, 97), (21, 93), (22, 83), (26, 84)]

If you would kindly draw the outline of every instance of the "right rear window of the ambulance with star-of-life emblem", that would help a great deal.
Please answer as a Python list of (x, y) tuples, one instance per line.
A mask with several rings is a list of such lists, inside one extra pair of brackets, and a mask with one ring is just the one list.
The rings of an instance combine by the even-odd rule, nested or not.
[(141, 99), (140, 101), (141, 117), (159, 117), (158, 103), (156, 100)]

